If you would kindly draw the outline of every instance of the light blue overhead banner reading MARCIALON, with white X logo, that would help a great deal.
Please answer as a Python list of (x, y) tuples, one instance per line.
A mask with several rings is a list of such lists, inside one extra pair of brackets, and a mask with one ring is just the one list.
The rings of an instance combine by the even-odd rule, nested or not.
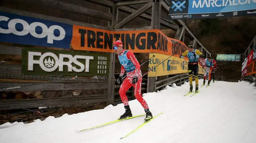
[(256, 0), (169, 0), (169, 19), (255, 16)]

